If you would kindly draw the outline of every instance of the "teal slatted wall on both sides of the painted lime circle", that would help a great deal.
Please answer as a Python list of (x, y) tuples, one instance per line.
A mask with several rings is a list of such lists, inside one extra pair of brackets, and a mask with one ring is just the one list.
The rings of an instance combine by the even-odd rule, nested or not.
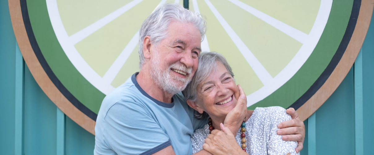
[[(373, 16), (374, 17), (374, 16)], [(372, 19), (373, 21), (373, 19)], [(309, 118), (301, 155), (374, 154), (374, 26), (346, 78)], [(93, 154), (95, 136), (45, 95), (22, 59), (0, 1), (0, 154)]]

